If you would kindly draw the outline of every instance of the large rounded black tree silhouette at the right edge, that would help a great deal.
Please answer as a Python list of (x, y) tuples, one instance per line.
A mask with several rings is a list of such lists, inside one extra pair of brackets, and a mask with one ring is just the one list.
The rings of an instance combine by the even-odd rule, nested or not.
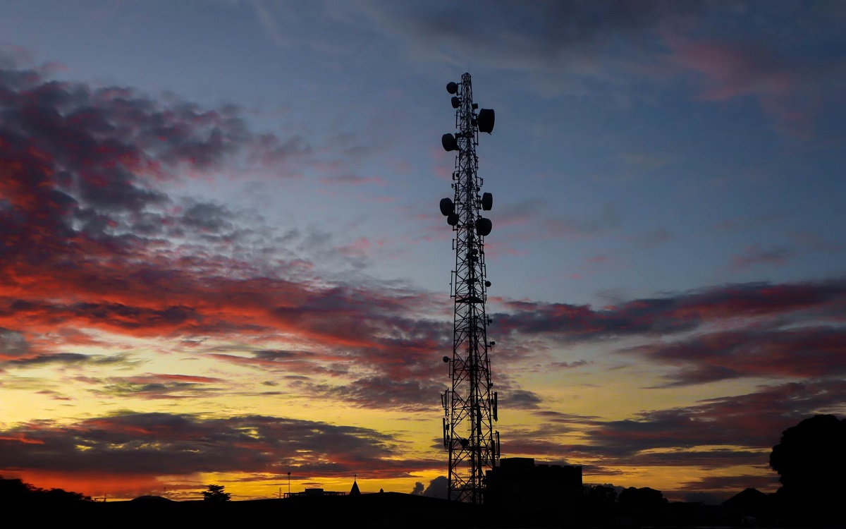
[(832, 521), (846, 496), (846, 421), (817, 415), (789, 427), (772, 447), (770, 466), (778, 472), (785, 510)]

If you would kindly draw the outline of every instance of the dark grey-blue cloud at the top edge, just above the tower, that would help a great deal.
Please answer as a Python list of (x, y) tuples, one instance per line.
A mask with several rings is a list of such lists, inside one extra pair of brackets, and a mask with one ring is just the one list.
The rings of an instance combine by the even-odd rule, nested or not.
[[(662, 0), (629, 5), (600, 2), (470, 2), (433, 6), (367, 2), (362, 14), (378, 30), (403, 41), (415, 57), (462, 62), (475, 58), (504, 69), (564, 69), (585, 74), (591, 58), (622, 40), (646, 47), (645, 34), (699, 9), (698, 2)], [(474, 24), (461, 21), (473, 19)], [(434, 44), (433, 44), (434, 43)]]

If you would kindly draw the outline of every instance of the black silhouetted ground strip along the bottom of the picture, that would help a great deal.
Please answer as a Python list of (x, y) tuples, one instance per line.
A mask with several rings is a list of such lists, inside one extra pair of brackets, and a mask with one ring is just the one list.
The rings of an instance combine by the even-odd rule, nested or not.
[[(504, 510), (404, 493), (299, 497), (211, 503), (165, 499), (107, 503), (26, 504), (0, 499), (7, 520), (18, 526), (53, 527), (411, 527), (426, 529), (506, 527), (703, 527), (843, 526), (745, 517), (739, 510), (701, 504), (669, 504), (648, 515), (567, 512), (560, 506)], [(841, 518), (838, 516), (838, 520)], [(785, 523), (786, 522), (786, 523)], [(799, 523), (797, 523), (799, 522)]]

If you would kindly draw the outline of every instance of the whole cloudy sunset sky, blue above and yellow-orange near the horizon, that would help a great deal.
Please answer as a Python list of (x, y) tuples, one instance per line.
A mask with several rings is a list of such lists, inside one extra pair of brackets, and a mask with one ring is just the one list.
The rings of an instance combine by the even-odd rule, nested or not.
[(438, 492), (445, 86), (503, 457), (772, 492), (846, 414), (846, 4), (0, 3), (0, 475)]

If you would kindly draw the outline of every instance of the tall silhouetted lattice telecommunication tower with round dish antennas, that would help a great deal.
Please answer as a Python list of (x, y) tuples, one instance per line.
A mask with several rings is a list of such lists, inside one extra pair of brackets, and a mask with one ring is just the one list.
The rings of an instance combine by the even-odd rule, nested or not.
[[(491, 193), (481, 193), (479, 159), (475, 147), (479, 133), (493, 130), (494, 112), (479, 109), (473, 102), (470, 74), (460, 83), (451, 82), (455, 127), (441, 143), (447, 152), (456, 151), (452, 199), (441, 201), (441, 212), (453, 227), (455, 268), (450, 281), (454, 300), (453, 355), (444, 356), (449, 365), (451, 385), (441, 396), (443, 446), (449, 453), (448, 499), (481, 504), (485, 498), (485, 472), (499, 459), (497, 393), (491, 388), (491, 360), (494, 342), (487, 341), (491, 323), (485, 311), (487, 289), (485, 237), (491, 233), (491, 220), (481, 216), (493, 206)], [(476, 112), (478, 110), (478, 113)], [(481, 193), (481, 194), (480, 194)]]

